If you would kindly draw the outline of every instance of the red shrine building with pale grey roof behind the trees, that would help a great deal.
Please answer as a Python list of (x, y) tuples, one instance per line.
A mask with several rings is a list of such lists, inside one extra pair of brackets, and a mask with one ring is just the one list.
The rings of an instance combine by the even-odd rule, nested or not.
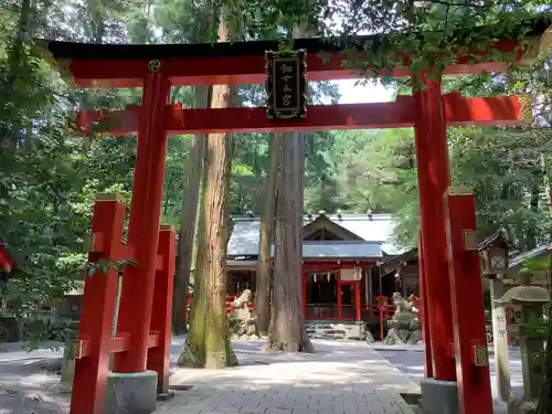
[[(379, 331), (379, 306), (391, 296), (418, 295), (417, 265), (399, 275), (384, 263), (402, 253), (393, 244), (395, 221), (390, 214), (326, 214), (304, 216), (302, 278), (307, 322), (364, 321)], [(259, 250), (259, 216), (234, 216), (227, 246), (229, 296), (255, 291)]]

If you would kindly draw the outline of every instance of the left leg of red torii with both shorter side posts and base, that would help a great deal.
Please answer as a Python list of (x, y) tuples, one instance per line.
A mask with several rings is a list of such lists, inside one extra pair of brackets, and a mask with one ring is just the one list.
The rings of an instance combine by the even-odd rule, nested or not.
[[(112, 338), (117, 279), (113, 268), (86, 278), (71, 414), (152, 413), (169, 393), (176, 234), (160, 227), (167, 151), (163, 120), (170, 82), (159, 61), (144, 76), (142, 114), (127, 244), (125, 204), (103, 198), (94, 209), (91, 261), (135, 258), (124, 270), (117, 335)], [(114, 353), (114, 371), (108, 371)]]

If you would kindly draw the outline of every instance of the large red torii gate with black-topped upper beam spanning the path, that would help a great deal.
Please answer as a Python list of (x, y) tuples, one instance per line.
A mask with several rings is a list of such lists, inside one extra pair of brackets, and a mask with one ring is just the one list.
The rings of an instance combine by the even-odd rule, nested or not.
[[(533, 22), (530, 25), (530, 35), (538, 39), (546, 26), (544, 20)], [(368, 36), (363, 40), (376, 38)], [(309, 81), (355, 77), (350, 70), (342, 67), (342, 61), (347, 60), (342, 49), (329, 46), (316, 39), (297, 40), (295, 45), (307, 51)], [(527, 57), (527, 54), (523, 54), (527, 49), (519, 50), (518, 46), (520, 42), (517, 40), (498, 41), (493, 45), (503, 53), (516, 52), (519, 60)], [(113, 307), (105, 299), (106, 289), (112, 291), (114, 286), (113, 282), (107, 280), (115, 276), (98, 278), (103, 280), (104, 286), (96, 286), (98, 283), (95, 278), (86, 279), (86, 286), (89, 288), (85, 290), (77, 352), (83, 358), (76, 362), (72, 414), (103, 412), (108, 372), (107, 357), (110, 352), (117, 352), (115, 372), (142, 372), (150, 365), (149, 347), (156, 344), (152, 342), (160, 341), (156, 338), (161, 335), (163, 343), (168, 343), (170, 338), (167, 330), (158, 335), (151, 332), (155, 319), (151, 314), (155, 284), (157, 286), (156, 270), (161, 268), (166, 273), (171, 272), (168, 265), (160, 267), (158, 261), (159, 216), (168, 134), (412, 126), (415, 129), (422, 222), (423, 327), (426, 348), (432, 358), (431, 370), (428, 367), (426, 376), (449, 383), (454, 383), (458, 378), (458, 396), (463, 413), (489, 414), (492, 411), (489, 370), (486, 364), (480, 367), (484, 350), (486, 355), (482, 301), (468, 304), (467, 312), (466, 304), (458, 300), (458, 295), (449, 295), (450, 285), (458, 291), (480, 291), (481, 282), (477, 257), (469, 251), (468, 243), (475, 225), (473, 197), (447, 192), (450, 174), (446, 128), (447, 125), (514, 124), (528, 109), (518, 97), (464, 98), (458, 94), (443, 96), (440, 79), (432, 81), (422, 74), (426, 87), (416, 91), (412, 97), (399, 97), (394, 103), (311, 106), (306, 119), (269, 120), (264, 108), (182, 109), (180, 105), (169, 105), (168, 97), (170, 87), (177, 85), (263, 83), (265, 51), (277, 50), (274, 42), (215, 45), (96, 45), (50, 42), (44, 49), (60, 66), (64, 66), (61, 67), (62, 71), (66, 70), (78, 86), (144, 88), (141, 107), (127, 107), (124, 112), (115, 113), (85, 110), (77, 117), (77, 125), (83, 131), (100, 128), (102, 125), (97, 123), (106, 120), (109, 126), (107, 131), (113, 135), (138, 132), (128, 234), (128, 246), (132, 250), (138, 265), (127, 266), (124, 273), (118, 333), (115, 340), (106, 333), (106, 327), (112, 323)], [(330, 59), (326, 62), (319, 53), (328, 50)], [(471, 65), (467, 56), (459, 56), (457, 64), (448, 66), (444, 74), (502, 71), (506, 66), (502, 62)], [(405, 65), (395, 68), (393, 75), (411, 76), (411, 73)], [(445, 195), (447, 203), (444, 201)], [(103, 251), (104, 255), (117, 255), (118, 251), (113, 253), (110, 250), (116, 247), (116, 240), (120, 240), (117, 238), (120, 217), (115, 220), (115, 216), (118, 217), (121, 213), (118, 210), (109, 210), (109, 214), (104, 215), (99, 210), (97, 206), (95, 222), (105, 223), (104, 232), (115, 235), (107, 244), (112, 247)], [(103, 219), (99, 219), (100, 216)], [(113, 223), (110, 229), (105, 221), (108, 216)], [(117, 229), (114, 230), (114, 226)], [(448, 237), (446, 227), (449, 230)], [(447, 246), (450, 254), (447, 253)], [(170, 252), (170, 247), (167, 251)], [(170, 257), (170, 254), (163, 256), (164, 261), (167, 257)], [(463, 261), (469, 263), (469, 267), (463, 266)], [(453, 278), (452, 284), (447, 275)], [(162, 309), (169, 308), (171, 286), (164, 284), (167, 296), (163, 298), (166, 301)], [(109, 294), (109, 297), (112, 296)], [(99, 305), (104, 311), (99, 314), (98, 321)], [(91, 317), (94, 312), (95, 319)], [(163, 323), (167, 323), (167, 319), (163, 320)], [(86, 343), (89, 344), (89, 352), (83, 351)], [(162, 357), (167, 363), (167, 347), (163, 347), (163, 352), (159, 358)], [(163, 371), (158, 372), (163, 375), (159, 378), (159, 392), (167, 391), (167, 376)], [(470, 384), (477, 386), (469, 386)]]

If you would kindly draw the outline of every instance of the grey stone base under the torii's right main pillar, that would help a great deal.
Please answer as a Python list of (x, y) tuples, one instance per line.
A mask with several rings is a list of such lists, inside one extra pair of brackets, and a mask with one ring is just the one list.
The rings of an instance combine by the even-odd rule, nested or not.
[(438, 381), (426, 378), (421, 381), (420, 386), (423, 414), (459, 414), (456, 381)]

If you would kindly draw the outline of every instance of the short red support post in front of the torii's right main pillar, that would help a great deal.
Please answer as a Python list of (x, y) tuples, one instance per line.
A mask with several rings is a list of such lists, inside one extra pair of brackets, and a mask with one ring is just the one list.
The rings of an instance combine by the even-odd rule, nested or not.
[(492, 413), (474, 195), (445, 194), (453, 322), (460, 414)]

